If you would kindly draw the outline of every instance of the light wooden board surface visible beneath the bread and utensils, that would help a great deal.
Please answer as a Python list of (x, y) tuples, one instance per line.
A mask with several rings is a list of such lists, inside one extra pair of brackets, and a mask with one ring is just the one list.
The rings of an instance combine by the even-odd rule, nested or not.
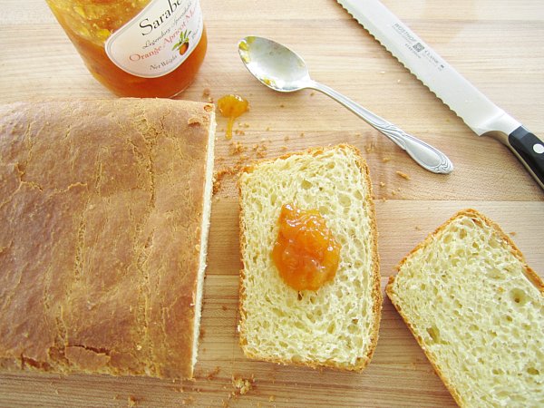
[[(493, 102), (544, 137), (541, 0), (384, 0)], [(195, 381), (102, 375), (0, 374), (0, 406), (455, 406), (401, 318), (384, 299), (380, 338), (363, 374), (249, 361), (238, 347), (238, 197), (230, 173), (250, 160), (317, 145), (354, 144), (374, 182), (383, 286), (393, 267), (458, 209), (497, 221), (544, 276), (544, 194), (499, 142), (477, 137), (333, 0), (201, 0), (209, 51), (180, 97), (236, 92), (251, 110), (225, 140), (218, 118), (209, 267)], [(0, 101), (113, 98), (85, 69), (41, 0), (0, 2)], [(295, 49), (312, 76), (444, 151), (455, 170), (434, 175), (316, 92), (279, 94), (238, 58), (248, 34)], [(233, 143), (238, 143), (234, 149)], [(242, 151), (242, 152), (239, 152)], [(410, 180), (397, 174), (402, 171)], [(1, 228), (1, 226), (0, 226)], [(0, 271), (1, 273), (1, 271)], [(432, 301), (432, 299), (430, 299)], [(249, 381), (240, 394), (232, 378)]]

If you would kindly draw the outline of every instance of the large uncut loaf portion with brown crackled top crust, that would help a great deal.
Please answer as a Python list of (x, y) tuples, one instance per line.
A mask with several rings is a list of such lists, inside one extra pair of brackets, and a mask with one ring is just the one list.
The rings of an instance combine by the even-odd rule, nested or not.
[(0, 107), (0, 367), (190, 377), (213, 105)]

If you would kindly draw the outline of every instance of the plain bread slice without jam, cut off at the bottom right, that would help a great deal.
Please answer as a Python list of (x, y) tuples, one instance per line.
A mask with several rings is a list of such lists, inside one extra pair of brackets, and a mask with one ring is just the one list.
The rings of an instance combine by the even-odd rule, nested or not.
[(544, 286), (497, 224), (462, 210), (397, 268), (387, 296), (459, 405), (544, 406)]

